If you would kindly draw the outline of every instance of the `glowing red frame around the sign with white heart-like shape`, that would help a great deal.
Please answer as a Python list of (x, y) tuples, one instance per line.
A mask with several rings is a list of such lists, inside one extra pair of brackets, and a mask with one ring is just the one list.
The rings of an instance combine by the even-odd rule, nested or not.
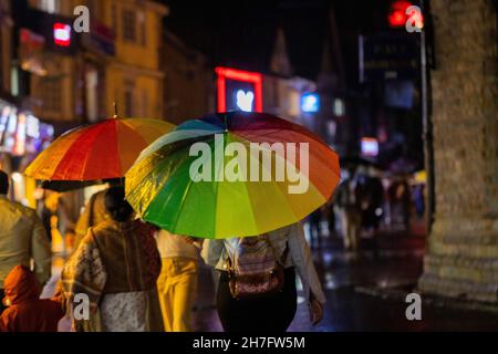
[[(227, 111), (227, 80), (252, 84), (255, 86), (255, 111), (262, 112), (262, 75), (260, 73), (220, 66), (217, 66), (215, 72), (218, 75), (216, 82), (218, 91), (218, 112)], [(239, 98), (249, 98), (251, 95), (250, 92), (239, 92), (238, 94)]]

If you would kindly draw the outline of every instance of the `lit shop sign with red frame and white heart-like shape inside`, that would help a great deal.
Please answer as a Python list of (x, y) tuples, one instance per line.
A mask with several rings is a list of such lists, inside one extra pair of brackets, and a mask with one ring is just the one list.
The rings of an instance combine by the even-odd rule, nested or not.
[(216, 67), (218, 112), (262, 112), (262, 75), (229, 67)]

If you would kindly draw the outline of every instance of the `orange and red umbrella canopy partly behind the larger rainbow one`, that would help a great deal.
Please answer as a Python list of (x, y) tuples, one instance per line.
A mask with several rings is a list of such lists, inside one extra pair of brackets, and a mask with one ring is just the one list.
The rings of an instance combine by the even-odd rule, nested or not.
[(82, 186), (121, 178), (147, 145), (173, 128), (151, 118), (108, 118), (76, 127), (50, 144), (24, 174), (39, 180), (81, 181)]

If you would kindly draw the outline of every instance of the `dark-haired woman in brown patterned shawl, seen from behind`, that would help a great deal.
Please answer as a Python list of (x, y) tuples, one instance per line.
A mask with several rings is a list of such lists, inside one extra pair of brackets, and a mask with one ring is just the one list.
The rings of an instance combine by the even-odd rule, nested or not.
[(75, 294), (86, 294), (90, 301), (90, 319), (74, 320), (74, 330), (164, 331), (155, 229), (134, 220), (123, 187), (111, 187), (104, 202), (111, 219), (89, 229), (61, 274), (70, 313)]

